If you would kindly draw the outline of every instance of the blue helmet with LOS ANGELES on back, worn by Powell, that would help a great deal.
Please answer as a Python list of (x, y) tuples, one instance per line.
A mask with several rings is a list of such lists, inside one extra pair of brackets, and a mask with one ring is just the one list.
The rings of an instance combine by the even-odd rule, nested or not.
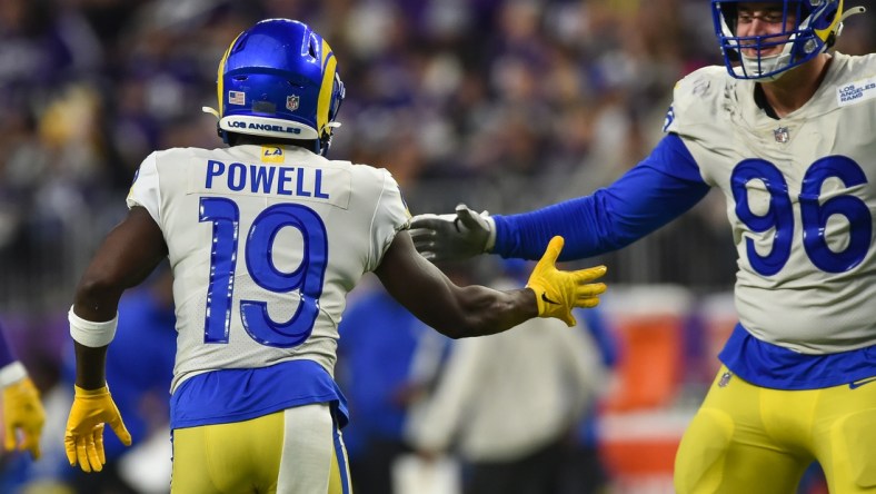
[(241, 32), (219, 61), (219, 136), (228, 132), (313, 141), (325, 155), (344, 100), (328, 42), (307, 24), (268, 19)]

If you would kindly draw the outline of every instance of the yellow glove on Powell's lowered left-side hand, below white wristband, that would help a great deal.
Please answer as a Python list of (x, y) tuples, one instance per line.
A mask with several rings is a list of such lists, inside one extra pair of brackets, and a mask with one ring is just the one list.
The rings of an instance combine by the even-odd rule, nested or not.
[(126, 446), (131, 445), (131, 434), (125, 428), (119, 408), (112, 401), (107, 385), (99, 389), (82, 389), (79, 386), (73, 388), (76, 395), (63, 436), (67, 461), (70, 462), (70, 466), (79, 463), (83, 472), (100, 472), (107, 463), (103, 454), (103, 423), (112, 427)]

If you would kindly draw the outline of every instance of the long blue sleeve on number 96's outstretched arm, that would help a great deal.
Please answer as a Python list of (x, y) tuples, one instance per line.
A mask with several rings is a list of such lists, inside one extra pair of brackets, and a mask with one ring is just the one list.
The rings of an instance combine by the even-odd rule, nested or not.
[(538, 259), (555, 235), (566, 239), (560, 260), (617, 250), (683, 215), (708, 191), (690, 151), (670, 134), (650, 156), (590, 196), (520, 215), (495, 215), (492, 251)]

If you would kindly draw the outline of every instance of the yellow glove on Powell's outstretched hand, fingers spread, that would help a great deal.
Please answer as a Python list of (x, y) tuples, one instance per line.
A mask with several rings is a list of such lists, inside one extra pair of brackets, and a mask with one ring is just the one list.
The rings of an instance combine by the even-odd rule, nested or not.
[(603, 283), (590, 283), (606, 273), (605, 266), (577, 271), (561, 271), (555, 264), (565, 240), (554, 237), (545, 255), (529, 275), (526, 286), (536, 293), (539, 317), (556, 317), (569, 327), (575, 326), (571, 309), (575, 307), (596, 307), (598, 295), (606, 290)]

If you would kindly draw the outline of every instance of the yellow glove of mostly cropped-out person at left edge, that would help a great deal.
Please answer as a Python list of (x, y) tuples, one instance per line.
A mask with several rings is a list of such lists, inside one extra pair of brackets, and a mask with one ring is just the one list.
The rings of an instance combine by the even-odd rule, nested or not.
[(3, 388), (3, 417), (6, 422), (6, 451), (16, 449), (17, 432), (21, 431), (19, 451), (30, 451), (33, 460), (40, 457), (40, 434), (46, 423), (46, 411), (40, 403), (40, 393), (30, 377)]

